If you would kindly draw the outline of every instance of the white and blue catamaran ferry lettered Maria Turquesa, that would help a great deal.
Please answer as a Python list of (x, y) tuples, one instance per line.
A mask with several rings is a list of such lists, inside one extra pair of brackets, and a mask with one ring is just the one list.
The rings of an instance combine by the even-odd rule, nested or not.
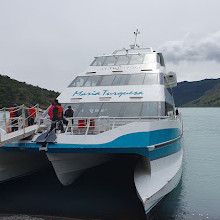
[(48, 119), (41, 118), (31, 140), (5, 148), (45, 153), (63, 185), (116, 155), (137, 157), (134, 182), (148, 213), (181, 178), (176, 84), (175, 73), (166, 73), (162, 54), (152, 48), (135, 45), (97, 56), (57, 98), (64, 110), (74, 109), (65, 132), (49, 131)]

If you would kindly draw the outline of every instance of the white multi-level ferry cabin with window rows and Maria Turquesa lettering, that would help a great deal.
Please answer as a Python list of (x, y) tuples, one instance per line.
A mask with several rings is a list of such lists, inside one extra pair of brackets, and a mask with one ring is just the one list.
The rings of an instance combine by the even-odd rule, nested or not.
[(174, 115), (170, 85), (176, 78), (165, 71), (162, 54), (152, 48), (116, 50), (95, 57), (58, 100), (64, 111), (68, 106), (74, 109), (78, 122), (92, 119), (93, 125), (100, 118), (115, 121), (167, 117)]

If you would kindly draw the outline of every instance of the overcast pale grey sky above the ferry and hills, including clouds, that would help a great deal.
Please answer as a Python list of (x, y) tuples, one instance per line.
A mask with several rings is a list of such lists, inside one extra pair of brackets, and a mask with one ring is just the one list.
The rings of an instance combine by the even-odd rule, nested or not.
[(220, 78), (219, 0), (0, 0), (0, 74), (62, 91), (93, 57), (138, 43), (178, 81)]

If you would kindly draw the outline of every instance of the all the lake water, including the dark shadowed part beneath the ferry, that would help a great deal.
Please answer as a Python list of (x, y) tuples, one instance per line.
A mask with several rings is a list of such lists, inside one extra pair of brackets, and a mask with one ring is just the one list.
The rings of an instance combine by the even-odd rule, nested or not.
[[(150, 220), (219, 220), (220, 108), (182, 108), (180, 112), (184, 122), (182, 180), (147, 217)], [(120, 169), (131, 164), (126, 160), (87, 172), (70, 187), (62, 187), (50, 169), (3, 183), (0, 213), (142, 220), (143, 210), (135, 196), (132, 172), (121, 176)], [(106, 171), (117, 174), (117, 180), (111, 179)]]

